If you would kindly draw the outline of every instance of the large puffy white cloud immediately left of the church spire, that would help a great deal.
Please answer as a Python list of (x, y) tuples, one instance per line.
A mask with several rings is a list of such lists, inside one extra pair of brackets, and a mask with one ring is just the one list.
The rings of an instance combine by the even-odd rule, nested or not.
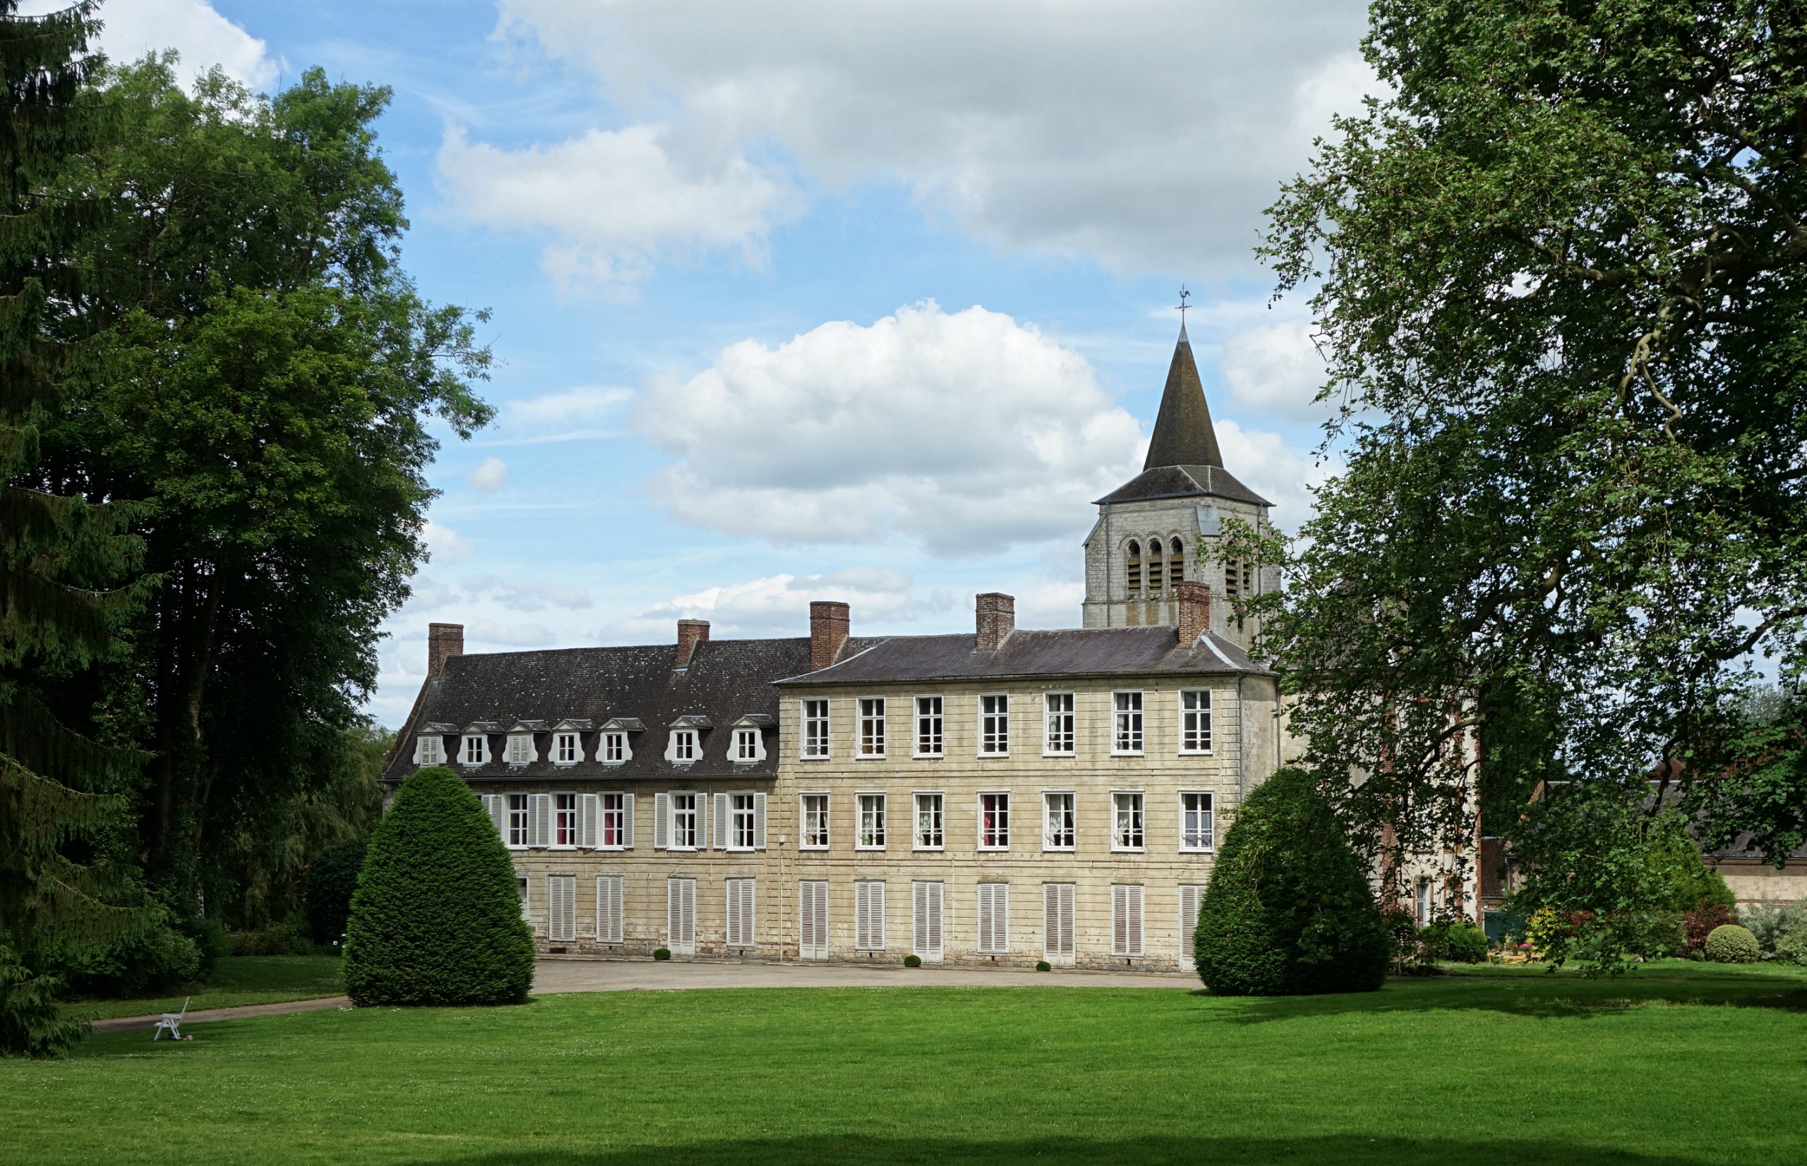
[(649, 390), (638, 424), (678, 458), (647, 487), (685, 522), (777, 543), (896, 536), (938, 556), (1082, 532), (1142, 444), (1082, 356), (934, 303), (732, 345)]

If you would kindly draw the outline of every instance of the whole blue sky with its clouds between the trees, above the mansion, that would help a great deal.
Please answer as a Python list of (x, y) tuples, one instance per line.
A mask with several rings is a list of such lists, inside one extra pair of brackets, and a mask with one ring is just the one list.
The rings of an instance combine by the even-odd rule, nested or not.
[[(45, 7), (45, 5), (38, 5)], [(497, 424), (446, 435), (390, 621), (466, 650), (1079, 621), (1090, 500), (1140, 467), (1180, 283), (1229, 467), (1296, 527), (1321, 365), (1261, 209), (1372, 78), (1355, 2), (110, 0), (103, 47), (273, 90), (381, 83)]]

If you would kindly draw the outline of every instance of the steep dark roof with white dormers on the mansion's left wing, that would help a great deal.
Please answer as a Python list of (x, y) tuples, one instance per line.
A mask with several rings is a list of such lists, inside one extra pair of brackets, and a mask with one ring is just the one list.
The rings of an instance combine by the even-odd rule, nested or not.
[[(857, 652), (871, 641), (847, 641)], [(454, 733), (473, 722), (495, 722), (486, 765), (454, 763), (470, 780), (508, 782), (548, 778), (669, 778), (687, 774), (763, 776), (777, 773), (779, 693), (773, 680), (810, 668), (810, 641), (797, 639), (721, 639), (696, 644), (688, 668), (676, 668), (676, 644), (632, 648), (564, 648), (555, 652), (495, 652), (454, 655), (430, 679), (401, 731), (396, 754), (383, 769), (385, 782), (399, 782), (414, 773), (416, 736), (437, 729), (446, 736), (446, 756), (455, 758)], [(728, 760), (734, 722), (743, 717), (764, 718), (766, 760), (735, 765)], [(701, 760), (676, 765), (665, 760), (670, 726), (681, 717), (699, 717)], [(508, 765), (504, 729), (522, 720), (589, 722), (582, 731), (580, 765), (551, 763), (551, 731), (535, 733), (538, 760)], [(609, 720), (622, 720), (629, 733), (632, 760), (620, 765), (596, 762), (598, 736)]]

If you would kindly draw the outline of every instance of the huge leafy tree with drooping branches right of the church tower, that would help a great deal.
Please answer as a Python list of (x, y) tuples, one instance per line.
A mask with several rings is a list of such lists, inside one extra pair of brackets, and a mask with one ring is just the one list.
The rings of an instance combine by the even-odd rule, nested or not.
[[(1800, 736), (1753, 745), (1740, 709), (1760, 657), (1803, 664), (1807, 14), (1377, 0), (1362, 49), (1386, 96), (1263, 245), (1312, 296), (1346, 471), (1294, 547), (1223, 549), (1287, 560), (1243, 606), (1325, 662), (1290, 677), (1308, 760), (1395, 857), (1469, 837), (1471, 731), (1518, 792), (1572, 778), (1511, 823), (1565, 915), (1652, 906), (1653, 773), (1780, 856)], [(1722, 780), (1740, 751), (1771, 763)]]

